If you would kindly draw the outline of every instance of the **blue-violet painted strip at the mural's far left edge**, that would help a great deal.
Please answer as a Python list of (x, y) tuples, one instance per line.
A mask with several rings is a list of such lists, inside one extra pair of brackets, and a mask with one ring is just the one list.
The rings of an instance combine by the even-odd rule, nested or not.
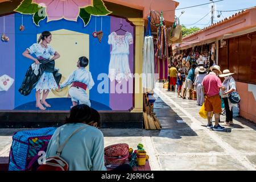
[[(5, 17), (5, 34), (9, 42), (0, 40), (0, 76), (8, 75), (15, 79), (15, 20), (14, 15), (0, 17), (0, 33), (3, 33), (3, 20)], [(8, 91), (0, 91), (0, 110), (14, 109), (14, 84)]]

